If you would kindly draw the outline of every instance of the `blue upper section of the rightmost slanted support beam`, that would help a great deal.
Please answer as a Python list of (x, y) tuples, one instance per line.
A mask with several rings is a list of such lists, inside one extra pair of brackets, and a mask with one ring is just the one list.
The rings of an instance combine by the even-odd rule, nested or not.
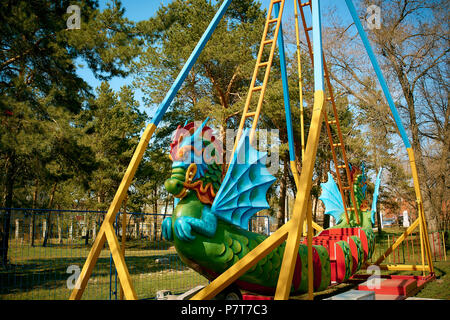
[(400, 115), (398, 114), (397, 108), (395, 107), (394, 100), (392, 99), (391, 93), (389, 92), (389, 87), (387, 86), (386, 80), (384, 79), (383, 73), (381, 72), (381, 68), (378, 65), (377, 59), (375, 58), (375, 54), (373, 53), (369, 39), (367, 38), (366, 32), (364, 31), (361, 21), (359, 20), (355, 6), (353, 5), (352, 0), (345, 0), (345, 2), (347, 3), (348, 10), (352, 15), (353, 22), (358, 29), (359, 36), (364, 43), (364, 47), (366, 48), (367, 54), (369, 55), (370, 61), (372, 62), (372, 66), (375, 69), (378, 81), (380, 82), (381, 88), (383, 89), (384, 96), (386, 97), (389, 108), (391, 109), (394, 121), (397, 124), (398, 130), (400, 131), (400, 136), (402, 137), (403, 143), (405, 144), (406, 148), (411, 148), (408, 135), (406, 134), (405, 128), (403, 127), (402, 120), (400, 118)]

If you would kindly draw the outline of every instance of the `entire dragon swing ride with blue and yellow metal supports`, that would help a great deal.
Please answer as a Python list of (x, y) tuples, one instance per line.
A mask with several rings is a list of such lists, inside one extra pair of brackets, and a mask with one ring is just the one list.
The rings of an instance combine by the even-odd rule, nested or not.
[[(231, 2), (232, 0), (223, 1), (172, 88), (160, 104), (152, 122), (145, 129), (70, 299), (81, 299), (106, 241), (125, 298), (137, 299), (113, 223), (154, 131)], [(207, 136), (205, 132), (210, 130), (206, 121), (198, 128), (193, 124), (179, 126), (171, 144), (172, 176), (166, 181), (165, 187), (179, 198), (179, 201), (172, 218), (164, 220), (162, 233), (165, 238), (174, 241), (180, 258), (186, 264), (211, 281), (207, 287), (192, 297), (193, 300), (212, 299), (230, 285), (251, 292), (274, 295), (276, 300), (287, 300), (293, 293), (308, 293), (309, 299), (312, 299), (314, 291), (324, 290), (331, 283), (346, 281), (358, 270), (369, 267), (368, 260), (373, 254), (375, 245), (372, 223), (380, 174), (378, 174), (373, 195), (372, 208), (369, 208), (365, 201), (365, 172), (351, 168), (345, 152), (330, 74), (322, 51), (320, 0), (306, 2), (294, 0), (302, 115), (301, 174), (297, 171), (284, 43), (283, 37), (280, 36), (285, 2), (285, 0), (270, 1), (231, 161), (223, 178), (221, 165), (214, 162), (205, 163), (202, 152), (196, 149), (199, 145), (200, 151), (203, 151), (206, 146), (214, 144), (213, 137), (205, 138)], [(422, 271), (423, 275), (425, 273), (433, 275), (433, 262), (414, 152), (356, 9), (351, 0), (345, 0), (345, 3), (407, 150), (418, 210), (417, 220), (384, 254), (376, 259), (374, 265), (382, 270)], [(307, 23), (306, 10), (310, 10), (311, 25)], [(314, 67), (314, 105), (306, 144), (303, 135), (299, 16), (302, 20), (309, 57)], [(275, 178), (265, 167), (266, 153), (257, 151), (251, 145), (263, 110), (264, 94), (277, 46), (283, 80), (290, 167), (297, 186), (297, 194), (291, 220), (271, 236), (265, 237), (246, 229), (248, 220), (254, 213), (268, 208), (266, 192)], [(263, 61), (263, 51), (267, 48), (270, 48), (269, 58)], [(258, 81), (262, 75), (263, 80)], [(253, 97), (257, 99), (256, 104), (252, 102)], [(327, 112), (326, 104), (331, 107), (330, 114)], [(252, 109), (255, 105), (256, 108)], [(249, 122), (251, 126), (246, 129)], [(310, 203), (313, 169), (323, 123), (330, 141), (337, 180), (335, 183), (329, 174), (328, 182), (322, 184), (321, 199), (325, 204), (326, 213), (333, 215), (337, 222), (337, 226), (326, 230), (312, 221)], [(194, 163), (188, 161), (189, 157), (195, 158), (196, 161)], [(302, 243), (305, 222), (308, 226), (307, 236)], [(420, 265), (382, 264), (386, 257), (417, 227), (420, 229), (422, 263)], [(318, 232), (316, 236), (314, 236), (314, 230)]]

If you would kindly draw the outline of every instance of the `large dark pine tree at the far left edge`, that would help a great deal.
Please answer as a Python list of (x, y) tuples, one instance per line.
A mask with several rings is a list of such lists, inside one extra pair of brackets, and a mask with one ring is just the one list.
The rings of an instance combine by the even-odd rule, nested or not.
[[(47, 134), (58, 132), (58, 121), (80, 112), (91, 95), (88, 84), (76, 73), (77, 59), (84, 59), (97, 77), (106, 79), (126, 75), (138, 51), (134, 26), (123, 18), (119, 2), (103, 12), (97, 9), (96, 1), (80, 2), (81, 28), (77, 30), (66, 26), (70, 4), (45, 0), (0, 4), (3, 207), (11, 208), (17, 203), (16, 186), (27, 189), (37, 185), (36, 180), (46, 179), (48, 164), (44, 160), (49, 159), (50, 150), (73, 143), (65, 134), (54, 134), (51, 139)], [(72, 154), (69, 157), (76, 158)], [(18, 181), (21, 185), (17, 185)], [(40, 183), (46, 184), (47, 181)], [(8, 262), (10, 216), (7, 210), (0, 226), (4, 265)]]

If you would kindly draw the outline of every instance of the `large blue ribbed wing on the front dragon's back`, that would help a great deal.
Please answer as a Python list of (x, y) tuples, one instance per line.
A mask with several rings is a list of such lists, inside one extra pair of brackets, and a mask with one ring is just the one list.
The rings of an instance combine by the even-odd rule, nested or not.
[(228, 167), (211, 211), (220, 219), (248, 229), (248, 221), (258, 211), (268, 209), (266, 194), (276, 178), (266, 167), (266, 152), (259, 152), (244, 132)]

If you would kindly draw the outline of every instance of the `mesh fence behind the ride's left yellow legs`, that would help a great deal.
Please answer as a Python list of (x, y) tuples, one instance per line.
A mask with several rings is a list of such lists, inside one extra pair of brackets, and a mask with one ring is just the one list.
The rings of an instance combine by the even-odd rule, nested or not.
[[(0, 299), (66, 300), (80, 273), (106, 212), (0, 208)], [(170, 215), (123, 214), (115, 222), (119, 242), (126, 237), (125, 261), (137, 296), (152, 299), (158, 290), (181, 293), (208, 281), (179, 258), (162, 239), (161, 223)], [(9, 228), (6, 228), (9, 225)], [(253, 217), (250, 230), (268, 235), (268, 216)], [(7, 239), (7, 240), (6, 240)], [(105, 245), (83, 299), (120, 299), (120, 284)]]

